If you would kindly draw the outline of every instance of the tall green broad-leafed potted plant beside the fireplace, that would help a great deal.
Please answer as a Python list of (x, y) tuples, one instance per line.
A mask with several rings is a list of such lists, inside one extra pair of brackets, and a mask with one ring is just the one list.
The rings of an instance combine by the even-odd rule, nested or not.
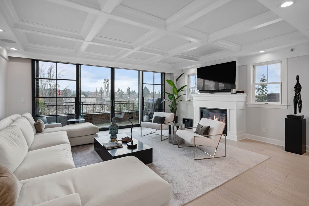
[(164, 101), (169, 101), (171, 103), (171, 105), (168, 105), (168, 107), (170, 107), (171, 112), (175, 114), (174, 116), (174, 120), (175, 122), (178, 122), (178, 117), (176, 116), (177, 113), (177, 107), (178, 107), (178, 103), (180, 101), (190, 101), (189, 99), (181, 99), (179, 100), (179, 98), (183, 95), (186, 94), (182, 94), (180, 95), (180, 92), (182, 91), (188, 91), (187, 89), (184, 89), (184, 87), (188, 86), (188, 85), (184, 85), (181, 86), (179, 89), (177, 88), (177, 82), (180, 79), (180, 77), (182, 77), (182, 75), (184, 75), (184, 73), (180, 74), (179, 77), (177, 77), (176, 79), (176, 83), (174, 83), (172, 80), (167, 79), (166, 82), (171, 85), (172, 87), (172, 93), (168, 93), (168, 92), (163, 92), (163, 94), (167, 94), (168, 95), (168, 99), (163, 99), (161, 103), (163, 103)]

